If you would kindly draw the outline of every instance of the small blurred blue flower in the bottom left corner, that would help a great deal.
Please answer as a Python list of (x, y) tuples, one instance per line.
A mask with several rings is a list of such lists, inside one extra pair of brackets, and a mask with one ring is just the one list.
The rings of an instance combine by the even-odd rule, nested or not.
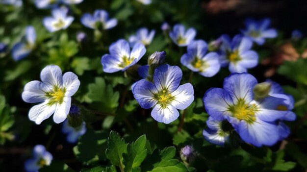
[(38, 172), (43, 166), (50, 166), (53, 157), (43, 145), (33, 148), (33, 158), (26, 160), (25, 170), (27, 172)]

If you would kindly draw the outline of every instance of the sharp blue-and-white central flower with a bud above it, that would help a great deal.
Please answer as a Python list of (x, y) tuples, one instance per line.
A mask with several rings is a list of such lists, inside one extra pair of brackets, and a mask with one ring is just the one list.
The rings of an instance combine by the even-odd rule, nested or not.
[(179, 117), (177, 109), (187, 108), (194, 100), (190, 83), (180, 85), (182, 72), (178, 66), (161, 65), (153, 74), (153, 83), (142, 79), (133, 84), (134, 98), (142, 108), (153, 107), (154, 120), (171, 123)]

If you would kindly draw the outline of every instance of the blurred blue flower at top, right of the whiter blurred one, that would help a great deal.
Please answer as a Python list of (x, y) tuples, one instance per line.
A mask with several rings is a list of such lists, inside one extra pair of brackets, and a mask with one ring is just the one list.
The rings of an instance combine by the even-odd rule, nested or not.
[(105, 10), (95, 10), (94, 15), (85, 13), (81, 17), (82, 25), (92, 29), (110, 29), (117, 25), (117, 19), (109, 19), (109, 15)]

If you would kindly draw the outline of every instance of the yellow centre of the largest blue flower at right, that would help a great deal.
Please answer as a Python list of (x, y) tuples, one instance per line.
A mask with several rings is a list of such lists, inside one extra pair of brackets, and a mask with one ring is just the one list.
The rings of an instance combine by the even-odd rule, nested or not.
[(246, 104), (243, 99), (239, 99), (237, 104), (230, 106), (228, 109), (234, 118), (244, 120), (247, 123), (256, 121), (255, 114), (258, 111), (256, 104)]

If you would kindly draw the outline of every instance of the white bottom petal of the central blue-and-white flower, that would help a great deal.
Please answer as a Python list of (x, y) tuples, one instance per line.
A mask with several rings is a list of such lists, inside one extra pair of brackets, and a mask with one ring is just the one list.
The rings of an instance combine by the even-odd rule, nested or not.
[(179, 117), (179, 112), (174, 106), (170, 104), (164, 108), (160, 104), (156, 104), (152, 111), (152, 117), (159, 123), (168, 124), (172, 123)]

